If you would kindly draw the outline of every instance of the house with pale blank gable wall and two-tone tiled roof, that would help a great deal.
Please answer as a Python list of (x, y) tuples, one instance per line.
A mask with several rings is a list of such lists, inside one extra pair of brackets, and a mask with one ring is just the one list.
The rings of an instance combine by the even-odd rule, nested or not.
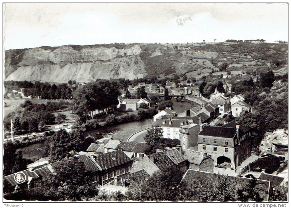
[(178, 166), (186, 172), (189, 168), (189, 162), (180, 152), (181, 149), (172, 149), (156, 152), (150, 155), (139, 154), (139, 158), (134, 162), (131, 172), (145, 170), (151, 176), (157, 171), (166, 171), (173, 166)]

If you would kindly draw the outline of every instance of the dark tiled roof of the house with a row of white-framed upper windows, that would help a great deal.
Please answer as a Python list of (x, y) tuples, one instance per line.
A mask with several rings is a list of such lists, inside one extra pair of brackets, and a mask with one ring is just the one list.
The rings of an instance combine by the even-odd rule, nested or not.
[(101, 170), (112, 168), (132, 161), (124, 152), (116, 150), (113, 152), (103, 153), (94, 158)]

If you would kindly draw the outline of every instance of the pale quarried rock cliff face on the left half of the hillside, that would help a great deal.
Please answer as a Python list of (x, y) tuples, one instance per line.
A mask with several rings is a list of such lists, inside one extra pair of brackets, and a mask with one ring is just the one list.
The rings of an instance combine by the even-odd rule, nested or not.
[(6, 53), (5, 75), (6, 80), (54, 82), (143, 78), (146, 73), (138, 56), (140, 53), (138, 45), (121, 49), (88, 47), (76, 50), (70, 46), (26, 49), (19, 54)]

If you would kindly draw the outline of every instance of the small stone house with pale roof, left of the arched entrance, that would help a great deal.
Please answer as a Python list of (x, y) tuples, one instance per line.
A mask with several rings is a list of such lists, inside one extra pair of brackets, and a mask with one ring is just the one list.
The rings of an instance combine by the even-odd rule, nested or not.
[(182, 154), (189, 162), (189, 169), (213, 173), (214, 159), (206, 153), (182, 148)]

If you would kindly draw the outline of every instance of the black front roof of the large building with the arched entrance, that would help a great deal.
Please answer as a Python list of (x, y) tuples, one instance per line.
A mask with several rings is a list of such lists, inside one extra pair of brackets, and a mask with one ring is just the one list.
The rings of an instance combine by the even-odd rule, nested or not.
[(198, 135), (234, 138), (236, 133), (237, 133), (236, 128), (205, 126)]

